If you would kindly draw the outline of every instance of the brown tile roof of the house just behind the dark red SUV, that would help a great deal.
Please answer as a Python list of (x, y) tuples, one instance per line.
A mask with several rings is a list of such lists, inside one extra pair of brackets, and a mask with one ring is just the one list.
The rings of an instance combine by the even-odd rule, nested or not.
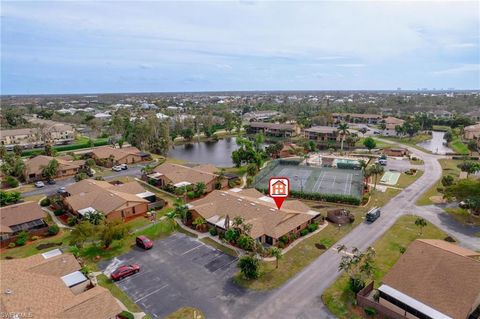
[(84, 179), (68, 186), (66, 191), (71, 196), (66, 197), (65, 201), (75, 211), (92, 207), (107, 215), (123, 207), (148, 203), (147, 200), (136, 196), (138, 193), (145, 192), (137, 182), (112, 185), (105, 181)]

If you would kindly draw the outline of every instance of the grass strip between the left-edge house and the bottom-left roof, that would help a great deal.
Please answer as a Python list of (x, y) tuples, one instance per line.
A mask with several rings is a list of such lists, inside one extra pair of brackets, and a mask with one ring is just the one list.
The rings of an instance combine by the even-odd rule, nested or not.
[[(5, 259), (6, 257), (25, 258), (35, 254), (44, 253), (46, 251), (49, 251), (55, 248), (67, 246), (69, 236), (70, 236), (70, 232), (68, 230), (67, 231), (61, 230), (56, 236), (53, 236), (53, 237), (47, 237), (44, 239), (29, 241), (25, 246), (2, 249), (1, 258), (2, 259)], [(45, 248), (41, 250), (36, 248), (40, 244), (49, 244), (49, 243), (61, 243), (61, 245), (53, 246), (53, 247)]]

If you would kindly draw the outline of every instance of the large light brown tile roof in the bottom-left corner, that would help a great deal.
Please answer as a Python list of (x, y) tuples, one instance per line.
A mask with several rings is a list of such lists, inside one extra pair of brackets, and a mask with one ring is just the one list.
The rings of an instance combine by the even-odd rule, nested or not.
[[(1, 260), (0, 311), (31, 313), (35, 318), (113, 318), (122, 310), (110, 292), (96, 286), (75, 295), (62, 276), (80, 269), (71, 254), (49, 259), (34, 255)], [(9, 293), (5, 293), (5, 291)]]

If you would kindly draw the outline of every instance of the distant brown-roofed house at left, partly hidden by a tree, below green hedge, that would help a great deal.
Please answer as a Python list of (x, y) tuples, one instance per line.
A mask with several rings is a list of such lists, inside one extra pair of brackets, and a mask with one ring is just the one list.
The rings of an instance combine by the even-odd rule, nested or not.
[(61, 157), (38, 155), (25, 161), (25, 170), (23, 172), (25, 181), (31, 183), (45, 179), (42, 174), (43, 168), (53, 159), (58, 162), (58, 170), (57, 175), (54, 177), (55, 179), (74, 176), (85, 168), (84, 160), (75, 161)]

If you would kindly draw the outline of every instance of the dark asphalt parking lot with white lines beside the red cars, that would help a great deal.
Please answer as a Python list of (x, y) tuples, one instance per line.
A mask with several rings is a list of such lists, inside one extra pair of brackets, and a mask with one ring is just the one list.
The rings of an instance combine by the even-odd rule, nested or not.
[(187, 306), (201, 309), (207, 318), (240, 318), (263, 299), (264, 294), (233, 283), (236, 257), (181, 233), (156, 241), (148, 251), (134, 248), (100, 268), (109, 275), (131, 263), (140, 264), (141, 271), (117, 285), (154, 318)]

